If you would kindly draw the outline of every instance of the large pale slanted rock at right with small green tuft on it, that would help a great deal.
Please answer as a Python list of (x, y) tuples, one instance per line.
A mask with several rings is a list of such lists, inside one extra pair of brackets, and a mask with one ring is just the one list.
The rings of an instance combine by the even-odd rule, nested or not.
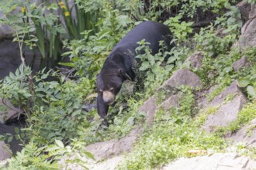
[[(230, 96), (230, 101), (225, 102), (226, 98)], [(234, 96), (235, 95), (235, 96)], [(232, 99), (232, 97), (234, 97)], [(237, 81), (234, 81), (223, 92), (214, 99), (208, 102), (207, 98), (202, 101), (202, 107), (220, 107), (216, 114), (211, 114), (207, 117), (206, 123), (203, 124), (207, 132), (212, 132), (216, 127), (226, 127), (230, 122), (237, 119), (237, 114), (241, 108), (246, 104), (247, 99), (244, 93), (237, 87)]]

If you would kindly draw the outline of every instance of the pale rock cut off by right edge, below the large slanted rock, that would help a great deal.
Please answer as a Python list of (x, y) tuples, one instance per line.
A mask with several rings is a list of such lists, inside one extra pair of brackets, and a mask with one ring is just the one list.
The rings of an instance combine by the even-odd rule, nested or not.
[(241, 128), (237, 133), (232, 134), (231, 139), (235, 142), (244, 142), (247, 146), (256, 147), (256, 119)]

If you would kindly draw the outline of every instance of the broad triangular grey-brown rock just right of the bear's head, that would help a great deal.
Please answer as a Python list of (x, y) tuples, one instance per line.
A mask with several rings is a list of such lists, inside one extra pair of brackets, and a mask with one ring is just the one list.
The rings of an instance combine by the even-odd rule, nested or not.
[(190, 71), (189, 69), (181, 69), (175, 71), (171, 78), (167, 80), (159, 90), (170, 90), (173, 91), (175, 88), (181, 86), (189, 86), (195, 89), (196, 87), (202, 87), (201, 80), (199, 76)]

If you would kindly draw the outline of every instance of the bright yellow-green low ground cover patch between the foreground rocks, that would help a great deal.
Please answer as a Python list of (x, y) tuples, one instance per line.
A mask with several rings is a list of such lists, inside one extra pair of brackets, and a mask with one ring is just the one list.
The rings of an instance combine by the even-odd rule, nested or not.
[(220, 151), (227, 147), (227, 142), (218, 135), (199, 131), (202, 123), (198, 120), (204, 119), (205, 115), (192, 118), (193, 100), (192, 90), (184, 88), (180, 107), (171, 108), (168, 112), (158, 111), (154, 126), (144, 132), (119, 169), (157, 168), (175, 158), (189, 156), (192, 149)]

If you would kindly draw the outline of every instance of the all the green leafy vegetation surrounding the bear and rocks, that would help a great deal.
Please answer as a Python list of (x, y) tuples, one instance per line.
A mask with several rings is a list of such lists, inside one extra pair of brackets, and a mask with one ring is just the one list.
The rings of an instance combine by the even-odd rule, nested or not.
[[(119, 168), (159, 168), (175, 158), (190, 156), (188, 151), (191, 149), (220, 151), (227, 147), (223, 134), (237, 131), (255, 117), (256, 50), (243, 51), (233, 47), (241, 27), (240, 13), (234, 6), (237, 1), (173, 0), (149, 4), (139, 0), (74, 0), (73, 6), (67, 3), (69, 1), (63, 2), (43, 1), (40, 5), (30, 1), (0, 2), (6, 15), (0, 23), (13, 27), (21, 58), (24, 46), (33, 50), (38, 48), (43, 56), (41, 67), (46, 67), (33, 74), (30, 69), (33, 66), (23, 63), (16, 73), (0, 80), (0, 97), (21, 107), (23, 113), (20, 114), (27, 117), (27, 127), (17, 131), (15, 137), (29, 141), (24, 142), (21, 152), (9, 159), (7, 169), (57, 169), (61, 158), (67, 158), (66, 165), (73, 162), (86, 167), (87, 163), (80, 158), (93, 158), (85, 151), (87, 145), (122, 138), (133, 128), (146, 124), (145, 113), (139, 112), (141, 105), (153, 94), (157, 96), (157, 104), (161, 104), (168, 93), (156, 93), (157, 88), (181, 68), (195, 50), (204, 54), (202, 69), (189, 68), (202, 79), (200, 90), (217, 85), (207, 96), (209, 100), (238, 80), (251, 103), (240, 111), (237, 121), (228, 128), (207, 134), (199, 128), (218, 107), (209, 107), (198, 114), (195, 90), (180, 87), (179, 107), (157, 111), (153, 127), (144, 125), (142, 137)], [(213, 15), (215, 22), (195, 33), (200, 12)], [(119, 39), (144, 20), (168, 25), (176, 46), (169, 52), (161, 49), (152, 56), (147, 42), (138, 42), (137, 51), (145, 51), (144, 54), (137, 53), (137, 58), (144, 61), (138, 68), (143, 72), (138, 81), (144, 80), (140, 84), (144, 88), (133, 90), (131, 94), (130, 85), (127, 88), (124, 85), (115, 107), (109, 109), (109, 128), (103, 129), (93, 108), (96, 74)], [(217, 34), (220, 29), (222, 32)], [(166, 55), (171, 57), (163, 63)], [(51, 70), (64, 56), (70, 61), (60, 64), (75, 71), (65, 74), (61, 70)], [(232, 63), (242, 56), (247, 56), (251, 65), (236, 72)], [(229, 102), (233, 97), (230, 95), (225, 101)], [(2, 140), (5, 138), (10, 141), (13, 136), (0, 136)], [(77, 157), (71, 161), (73, 153)]]

